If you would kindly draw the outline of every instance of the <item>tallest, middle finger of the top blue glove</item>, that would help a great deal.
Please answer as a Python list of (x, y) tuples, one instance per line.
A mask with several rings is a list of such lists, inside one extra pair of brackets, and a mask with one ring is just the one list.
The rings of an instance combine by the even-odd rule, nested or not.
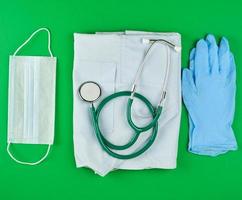
[(209, 54), (209, 66), (211, 73), (218, 74), (219, 64), (218, 64), (218, 45), (216, 39), (213, 35), (209, 34), (206, 38), (208, 44), (208, 54)]

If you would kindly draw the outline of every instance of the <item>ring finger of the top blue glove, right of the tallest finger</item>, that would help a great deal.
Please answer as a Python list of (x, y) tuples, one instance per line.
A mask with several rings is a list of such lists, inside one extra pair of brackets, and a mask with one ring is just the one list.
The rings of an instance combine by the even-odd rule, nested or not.
[(226, 38), (222, 38), (219, 51), (219, 71), (224, 76), (227, 77), (230, 72), (230, 50), (229, 50), (229, 42)]

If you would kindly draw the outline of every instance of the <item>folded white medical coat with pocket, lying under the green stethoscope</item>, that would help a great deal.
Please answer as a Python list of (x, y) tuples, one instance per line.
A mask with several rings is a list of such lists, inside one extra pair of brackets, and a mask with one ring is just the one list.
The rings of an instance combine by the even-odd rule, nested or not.
[[(102, 97), (116, 91), (130, 90), (136, 71), (150, 44), (147, 39), (165, 39), (181, 45), (178, 33), (147, 33), (125, 31), (124, 33), (74, 34), (74, 151), (77, 167), (88, 167), (101, 176), (115, 169), (140, 170), (147, 168), (176, 168), (178, 135), (181, 116), (181, 54), (170, 50), (170, 72), (167, 96), (159, 119), (159, 130), (154, 144), (137, 158), (119, 160), (102, 150), (92, 127), (90, 105), (78, 95), (78, 87), (85, 81), (95, 81), (102, 88)], [(146, 65), (137, 92), (147, 97), (156, 107), (164, 81), (167, 64), (166, 46), (156, 48)], [(100, 126), (105, 136), (115, 144), (124, 144), (132, 136), (126, 119), (127, 99), (121, 98), (104, 108)], [(133, 119), (144, 125), (152, 118), (142, 102), (133, 104)], [(143, 133), (137, 144), (123, 153), (130, 153), (143, 145), (150, 133)]]

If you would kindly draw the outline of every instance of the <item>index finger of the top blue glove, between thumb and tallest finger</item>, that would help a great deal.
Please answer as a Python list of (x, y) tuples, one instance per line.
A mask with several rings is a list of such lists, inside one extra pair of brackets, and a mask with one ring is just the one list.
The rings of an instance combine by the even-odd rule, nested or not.
[(204, 39), (198, 41), (195, 53), (195, 82), (196, 85), (202, 81), (204, 75), (209, 73), (208, 45)]

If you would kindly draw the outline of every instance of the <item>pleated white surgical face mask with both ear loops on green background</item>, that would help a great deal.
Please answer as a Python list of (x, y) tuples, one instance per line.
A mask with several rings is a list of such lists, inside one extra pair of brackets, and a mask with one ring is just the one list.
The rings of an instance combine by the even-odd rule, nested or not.
[[(48, 33), (50, 57), (17, 56), (33, 36)], [(54, 141), (56, 58), (50, 49), (50, 32), (35, 31), (10, 56), (8, 100), (8, 146), (10, 157), (20, 164), (36, 165), (48, 155)], [(48, 145), (45, 155), (37, 162), (20, 161), (10, 151), (12, 143)]]

